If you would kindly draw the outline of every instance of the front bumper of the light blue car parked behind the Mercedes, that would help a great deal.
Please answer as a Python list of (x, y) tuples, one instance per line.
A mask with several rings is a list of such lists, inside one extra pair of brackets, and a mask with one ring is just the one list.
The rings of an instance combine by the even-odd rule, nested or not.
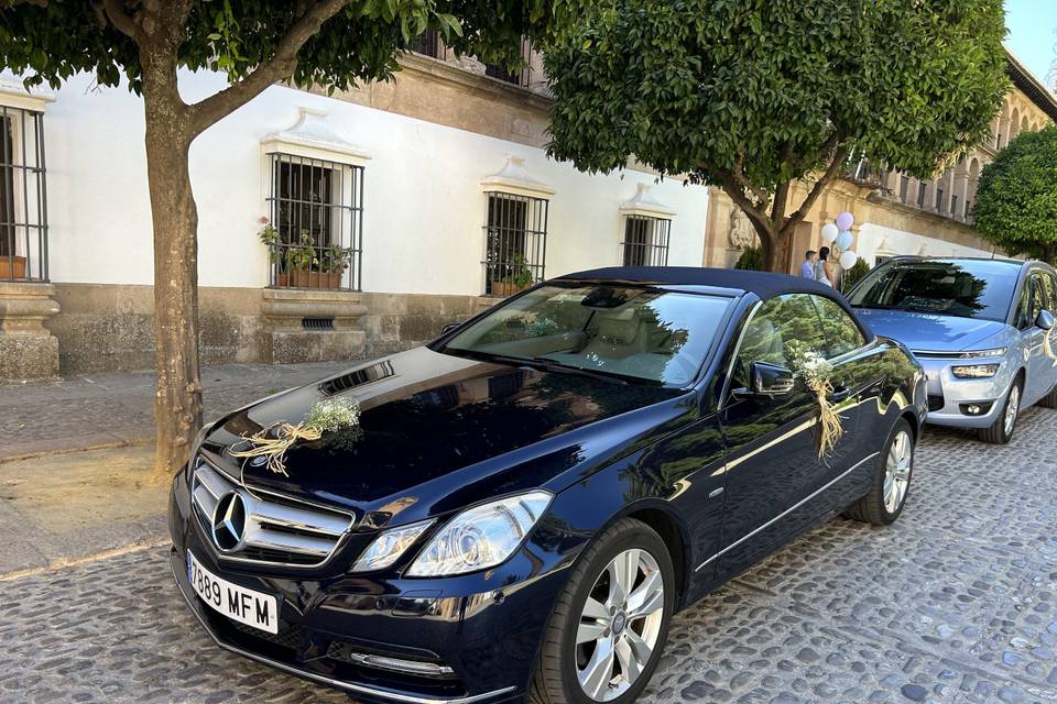
[[(917, 360), (928, 377), (928, 422), (952, 428), (988, 428), (1002, 414), (1013, 378), (1010, 364), (1002, 358), (957, 360), (918, 356)], [(977, 363), (1001, 363), (1001, 366), (989, 378), (958, 378), (950, 371), (954, 365)], [(985, 410), (978, 415), (967, 414), (965, 409), (971, 405)]]

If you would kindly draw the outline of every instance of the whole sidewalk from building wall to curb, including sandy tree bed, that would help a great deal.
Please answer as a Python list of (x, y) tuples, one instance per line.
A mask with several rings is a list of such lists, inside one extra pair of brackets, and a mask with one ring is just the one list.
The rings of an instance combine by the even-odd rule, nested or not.
[[(207, 419), (351, 362), (206, 367)], [(0, 580), (167, 540), (154, 374), (0, 385)]]

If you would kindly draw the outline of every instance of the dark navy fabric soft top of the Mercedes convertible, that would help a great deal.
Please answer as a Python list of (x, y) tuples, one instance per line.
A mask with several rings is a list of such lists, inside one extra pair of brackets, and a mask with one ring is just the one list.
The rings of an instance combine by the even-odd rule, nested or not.
[(700, 266), (607, 266), (566, 274), (560, 278), (611, 279), (641, 284), (716, 286), (752, 292), (766, 300), (782, 294), (821, 294), (843, 302), (843, 297), (825, 284), (803, 276)]

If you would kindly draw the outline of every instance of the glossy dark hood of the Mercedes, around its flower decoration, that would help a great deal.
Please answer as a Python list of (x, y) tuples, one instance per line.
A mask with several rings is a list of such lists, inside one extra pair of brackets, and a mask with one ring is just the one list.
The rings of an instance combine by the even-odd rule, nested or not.
[[(230, 455), (272, 424), (328, 398), (355, 399), (359, 426), (299, 441), (286, 475)], [(402, 521), (493, 495), (568, 482), (696, 404), (687, 392), (493, 364), (426, 348), (279, 394), (218, 421), (203, 452), (252, 487)], [(557, 488), (553, 487), (552, 488)]]

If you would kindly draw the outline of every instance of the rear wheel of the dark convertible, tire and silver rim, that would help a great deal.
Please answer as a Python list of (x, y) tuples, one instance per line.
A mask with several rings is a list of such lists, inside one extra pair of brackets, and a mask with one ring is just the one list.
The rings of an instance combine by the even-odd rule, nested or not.
[(844, 509), (844, 516), (874, 526), (887, 526), (903, 513), (914, 474), (914, 430), (900, 418), (878, 458), (870, 492)]

